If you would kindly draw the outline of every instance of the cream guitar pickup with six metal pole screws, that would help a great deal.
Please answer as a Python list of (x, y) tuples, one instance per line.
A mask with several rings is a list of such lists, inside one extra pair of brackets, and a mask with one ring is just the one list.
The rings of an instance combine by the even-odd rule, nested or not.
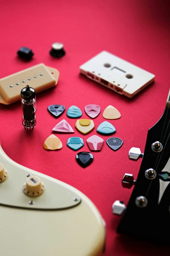
[(0, 103), (9, 105), (21, 98), (21, 90), (28, 84), (36, 93), (57, 85), (59, 71), (43, 63), (0, 79)]

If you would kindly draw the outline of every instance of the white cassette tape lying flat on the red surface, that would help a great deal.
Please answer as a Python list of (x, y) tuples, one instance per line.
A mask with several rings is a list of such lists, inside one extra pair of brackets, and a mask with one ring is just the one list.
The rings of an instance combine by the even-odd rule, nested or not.
[(103, 51), (80, 66), (80, 73), (132, 98), (154, 81), (155, 75)]

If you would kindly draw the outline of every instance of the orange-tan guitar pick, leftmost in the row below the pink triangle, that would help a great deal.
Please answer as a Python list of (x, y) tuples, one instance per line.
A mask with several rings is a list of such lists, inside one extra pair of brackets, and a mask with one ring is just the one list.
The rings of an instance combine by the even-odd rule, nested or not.
[(45, 149), (55, 150), (60, 149), (63, 147), (61, 140), (55, 136), (54, 134), (51, 134), (44, 142), (43, 147)]

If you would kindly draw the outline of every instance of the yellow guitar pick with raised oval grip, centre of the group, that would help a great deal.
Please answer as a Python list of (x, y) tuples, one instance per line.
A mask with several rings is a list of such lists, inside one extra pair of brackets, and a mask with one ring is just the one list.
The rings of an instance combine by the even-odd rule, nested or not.
[(90, 119), (78, 119), (75, 126), (81, 133), (86, 134), (94, 128), (94, 122)]

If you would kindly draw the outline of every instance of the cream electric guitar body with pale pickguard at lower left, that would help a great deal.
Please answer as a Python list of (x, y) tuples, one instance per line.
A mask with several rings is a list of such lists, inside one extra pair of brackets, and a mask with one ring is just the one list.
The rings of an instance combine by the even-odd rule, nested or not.
[[(0, 163), (0, 255), (102, 255), (104, 221), (84, 194), (17, 164), (1, 146)], [(40, 179), (43, 187), (37, 190), (42, 194), (37, 195)]]

